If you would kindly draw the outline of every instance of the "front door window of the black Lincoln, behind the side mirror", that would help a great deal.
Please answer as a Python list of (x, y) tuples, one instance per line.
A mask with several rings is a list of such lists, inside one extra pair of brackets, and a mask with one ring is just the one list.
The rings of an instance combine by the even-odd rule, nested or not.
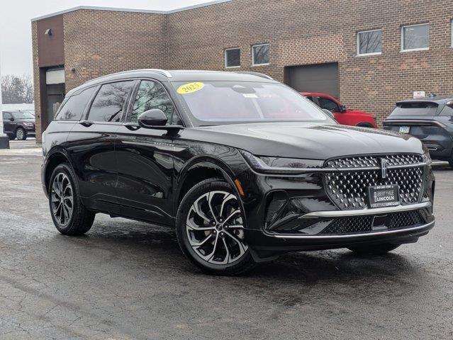
[(159, 108), (167, 115), (167, 125), (181, 124), (174, 106), (164, 87), (151, 80), (142, 80), (135, 97), (135, 103), (127, 122), (137, 123), (138, 116), (145, 111)]

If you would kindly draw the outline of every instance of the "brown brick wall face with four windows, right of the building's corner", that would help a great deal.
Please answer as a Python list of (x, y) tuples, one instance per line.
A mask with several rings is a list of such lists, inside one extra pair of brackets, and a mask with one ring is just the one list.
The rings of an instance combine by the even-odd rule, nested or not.
[[(340, 100), (386, 118), (413, 91), (453, 94), (451, 0), (233, 0), (169, 15), (171, 68), (223, 69), (241, 47), (240, 69), (284, 81), (284, 67), (339, 62)], [(430, 23), (430, 50), (401, 53), (401, 26)], [(188, 29), (190, 28), (190, 29)], [(382, 55), (356, 57), (357, 31), (381, 28)], [(251, 45), (271, 44), (269, 66), (252, 67)]]

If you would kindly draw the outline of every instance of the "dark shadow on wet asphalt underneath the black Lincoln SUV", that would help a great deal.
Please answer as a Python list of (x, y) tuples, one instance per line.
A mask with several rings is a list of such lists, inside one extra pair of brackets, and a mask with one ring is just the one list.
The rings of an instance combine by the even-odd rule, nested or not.
[[(106, 261), (121, 261), (127, 257), (129, 262), (135, 261), (136, 268), (159, 266), (162, 271), (171, 268), (173, 275), (205, 275), (185, 259), (176, 234), (165, 227), (96, 217), (94, 227), (86, 236), (63, 237), (56, 234), (55, 239), (57, 242), (86, 246), (87, 249), (95, 247), (113, 251), (114, 256)], [(347, 249), (293, 252), (275, 261), (260, 263), (253, 271), (235, 280), (253, 281), (258, 286), (264, 283), (317, 285), (335, 282), (345, 285), (377, 284), (376, 287), (379, 287), (388, 280), (394, 284), (400, 279), (423, 275), (413, 257), (405, 255), (404, 246), (400, 249), (383, 256), (368, 257), (356, 256)]]

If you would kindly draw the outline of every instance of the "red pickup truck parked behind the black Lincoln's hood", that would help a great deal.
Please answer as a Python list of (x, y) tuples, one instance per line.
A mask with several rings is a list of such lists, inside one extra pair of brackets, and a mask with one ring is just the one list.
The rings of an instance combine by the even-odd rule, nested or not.
[(377, 128), (376, 119), (371, 113), (359, 110), (351, 110), (337, 101), (330, 94), (318, 92), (302, 92), (303, 96), (313, 101), (320, 108), (333, 113), (335, 120), (342, 125), (362, 126), (363, 128)]

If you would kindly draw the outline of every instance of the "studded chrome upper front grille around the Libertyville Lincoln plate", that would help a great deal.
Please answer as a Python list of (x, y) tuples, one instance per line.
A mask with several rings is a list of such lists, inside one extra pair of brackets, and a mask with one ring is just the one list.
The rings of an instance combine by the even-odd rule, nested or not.
[(410, 166), (423, 162), (422, 156), (417, 154), (332, 159), (326, 162), (325, 167), (340, 171), (324, 175), (330, 199), (342, 210), (363, 209), (367, 205), (369, 186), (397, 184), (402, 205), (418, 203), (423, 187), (423, 167), (388, 169), (385, 179), (381, 178), (381, 169), (361, 169), (380, 167), (380, 159), (383, 158), (386, 159), (387, 166)]

